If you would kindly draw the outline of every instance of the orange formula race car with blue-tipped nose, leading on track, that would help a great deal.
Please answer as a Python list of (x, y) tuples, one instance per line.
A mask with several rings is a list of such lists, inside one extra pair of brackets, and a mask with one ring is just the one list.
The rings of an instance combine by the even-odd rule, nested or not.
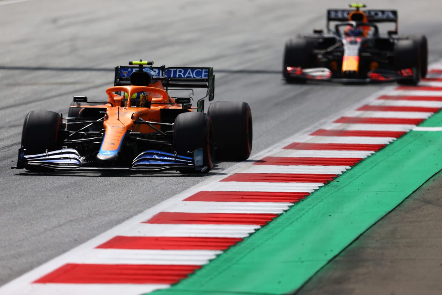
[[(115, 68), (107, 102), (74, 96), (68, 117), (30, 111), (22, 147), (13, 168), (30, 171), (208, 172), (216, 159), (245, 160), (252, 147), (252, 117), (247, 103), (204, 101), (214, 96), (213, 68), (153, 67), (132, 61)], [(171, 90), (206, 88), (192, 107), (191, 96)]]

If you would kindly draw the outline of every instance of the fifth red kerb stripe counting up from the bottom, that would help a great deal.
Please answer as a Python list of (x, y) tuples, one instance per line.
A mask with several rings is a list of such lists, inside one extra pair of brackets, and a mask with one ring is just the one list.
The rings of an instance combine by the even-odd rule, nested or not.
[(301, 173), (235, 173), (220, 181), (241, 182), (316, 182), (328, 183), (336, 174), (301, 174)]

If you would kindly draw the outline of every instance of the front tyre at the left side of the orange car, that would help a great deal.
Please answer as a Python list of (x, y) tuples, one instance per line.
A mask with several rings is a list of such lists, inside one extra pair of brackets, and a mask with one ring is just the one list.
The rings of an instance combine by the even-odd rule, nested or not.
[(45, 153), (61, 147), (63, 123), (53, 111), (30, 111), (23, 123), (22, 146), (26, 155)]

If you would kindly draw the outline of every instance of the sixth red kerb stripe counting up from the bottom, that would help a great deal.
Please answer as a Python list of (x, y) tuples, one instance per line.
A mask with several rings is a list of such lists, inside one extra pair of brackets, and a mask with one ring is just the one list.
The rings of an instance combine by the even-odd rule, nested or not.
[(354, 166), (362, 158), (314, 158), (314, 157), (265, 157), (254, 165), (321, 165), (321, 166)]

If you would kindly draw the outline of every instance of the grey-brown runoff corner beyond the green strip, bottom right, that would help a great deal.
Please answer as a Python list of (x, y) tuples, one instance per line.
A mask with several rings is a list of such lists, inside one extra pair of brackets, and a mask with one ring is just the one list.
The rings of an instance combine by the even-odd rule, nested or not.
[(441, 174), (428, 180), (293, 294), (441, 294)]

